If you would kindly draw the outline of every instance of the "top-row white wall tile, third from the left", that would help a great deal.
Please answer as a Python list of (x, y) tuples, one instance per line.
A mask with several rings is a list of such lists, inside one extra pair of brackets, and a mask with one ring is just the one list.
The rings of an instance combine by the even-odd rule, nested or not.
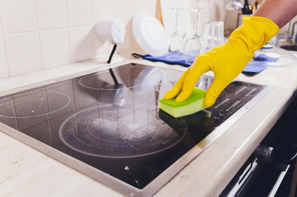
[(68, 27), (92, 24), (91, 0), (66, 0)]

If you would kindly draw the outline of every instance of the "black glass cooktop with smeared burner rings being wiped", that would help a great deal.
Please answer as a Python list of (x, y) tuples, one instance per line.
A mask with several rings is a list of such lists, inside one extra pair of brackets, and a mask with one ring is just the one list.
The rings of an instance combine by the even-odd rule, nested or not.
[(264, 88), (232, 82), (211, 108), (174, 118), (158, 99), (182, 72), (132, 64), (113, 72), (2, 97), (0, 122), (141, 189)]

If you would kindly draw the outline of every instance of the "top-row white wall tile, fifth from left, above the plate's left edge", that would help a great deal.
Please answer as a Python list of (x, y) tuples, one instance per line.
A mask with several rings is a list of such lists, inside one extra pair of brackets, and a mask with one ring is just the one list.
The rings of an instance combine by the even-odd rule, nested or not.
[(128, 22), (132, 18), (132, 0), (114, 0), (115, 18)]

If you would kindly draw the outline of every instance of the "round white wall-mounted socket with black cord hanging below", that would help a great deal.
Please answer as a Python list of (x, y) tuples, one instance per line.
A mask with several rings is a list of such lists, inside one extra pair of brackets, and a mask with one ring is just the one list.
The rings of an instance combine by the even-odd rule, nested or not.
[(96, 35), (102, 42), (122, 44), (125, 38), (125, 25), (121, 20), (99, 20), (96, 24)]

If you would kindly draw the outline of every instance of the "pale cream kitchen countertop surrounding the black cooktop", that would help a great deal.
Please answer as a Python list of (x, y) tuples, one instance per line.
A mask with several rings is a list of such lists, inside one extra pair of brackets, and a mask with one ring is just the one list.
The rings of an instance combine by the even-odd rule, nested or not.
[[(142, 51), (137, 52), (144, 54)], [(186, 69), (177, 65), (135, 59), (127, 52), (121, 56), (116, 55), (113, 59), (116, 63), (113, 65), (106, 65), (105, 61), (95, 59), (53, 68), (48, 71), (51, 73), (50, 78), (46, 78), (47, 72), (41, 71), (39, 79), (23, 75), (0, 80), (0, 90), (15, 88), (0, 93), (0, 96), (31, 88), (34, 83), (45, 85), (47, 80), (53, 78), (72, 78), (75, 76), (71, 73), (73, 70), (87, 74), (118, 66), (122, 64), (123, 58), (133, 63), (175, 70)], [(61, 71), (63, 76), (59, 74)], [(212, 73), (208, 72), (207, 75)], [(26, 83), (19, 85), (20, 79), (26, 80)], [(297, 68), (267, 68), (254, 76), (240, 74), (237, 79), (273, 85), (275, 88), (155, 196), (218, 196), (296, 97)], [(3, 132), (0, 132), (0, 150), (0, 196), (123, 196)]]

